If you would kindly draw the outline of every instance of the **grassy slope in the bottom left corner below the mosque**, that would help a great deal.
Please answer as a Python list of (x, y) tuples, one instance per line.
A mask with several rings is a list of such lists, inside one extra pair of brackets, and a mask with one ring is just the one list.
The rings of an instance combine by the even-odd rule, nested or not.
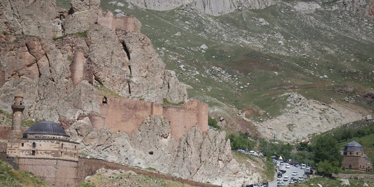
[(1, 187), (47, 187), (40, 178), (30, 172), (14, 170), (6, 162), (0, 159), (0, 186)]

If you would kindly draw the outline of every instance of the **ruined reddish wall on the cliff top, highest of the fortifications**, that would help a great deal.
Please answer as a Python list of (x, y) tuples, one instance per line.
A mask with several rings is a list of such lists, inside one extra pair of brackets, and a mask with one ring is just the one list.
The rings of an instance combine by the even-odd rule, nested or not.
[(135, 17), (134, 16), (124, 16), (124, 17), (114, 17), (113, 12), (107, 11), (104, 15), (102, 9), (98, 9), (98, 19), (97, 24), (110, 28), (116, 31), (116, 28), (122, 27), (125, 31), (135, 30)]

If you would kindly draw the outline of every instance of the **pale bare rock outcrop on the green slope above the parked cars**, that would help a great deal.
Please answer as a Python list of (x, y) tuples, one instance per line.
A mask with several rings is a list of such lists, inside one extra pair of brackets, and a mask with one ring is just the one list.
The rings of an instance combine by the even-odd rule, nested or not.
[(267, 138), (294, 141), (306, 137), (310, 132), (324, 132), (344, 123), (363, 118), (349, 106), (328, 105), (307, 100), (297, 93), (285, 93), (288, 105), (281, 116), (266, 120), (258, 126)]

